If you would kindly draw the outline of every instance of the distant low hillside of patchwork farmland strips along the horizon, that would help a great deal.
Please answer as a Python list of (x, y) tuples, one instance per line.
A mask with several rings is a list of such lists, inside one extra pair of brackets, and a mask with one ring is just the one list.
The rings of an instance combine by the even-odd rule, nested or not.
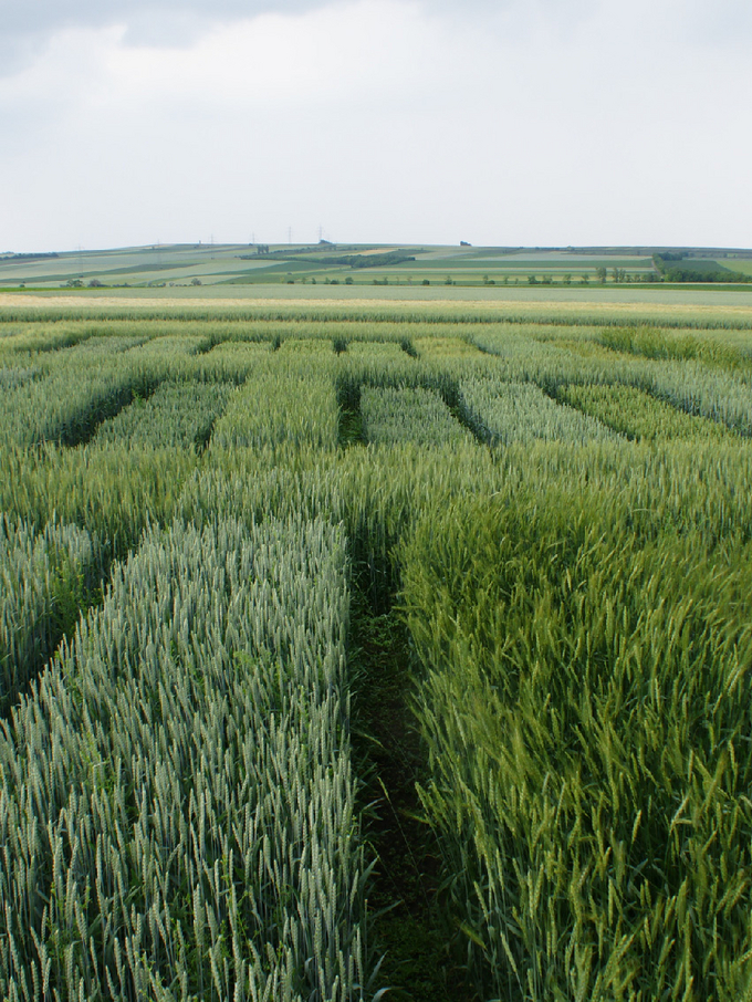
[[(752, 279), (752, 252), (701, 248), (531, 248), (196, 244), (0, 257), (0, 289), (194, 285), (654, 284), (660, 261), (694, 276)], [(733, 254), (734, 257), (729, 257)], [(676, 259), (676, 260), (675, 260)], [(658, 261), (658, 263), (657, 263)]]

